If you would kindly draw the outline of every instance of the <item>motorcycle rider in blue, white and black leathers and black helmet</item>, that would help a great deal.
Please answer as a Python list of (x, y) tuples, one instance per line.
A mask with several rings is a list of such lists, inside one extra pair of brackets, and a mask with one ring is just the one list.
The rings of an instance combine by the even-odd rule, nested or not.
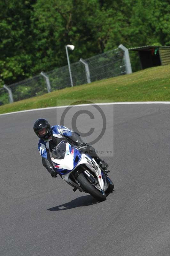
[(50, 123), (46, 119), (39, 118), (34, 123), (34, 132), (40, 138), (38, 149), (42, 156), (43, 166), (50, 172), (52, 177), (57, 177), (57, 172), (53, 168), (49, 152), (52, 152), (52, 149), (55, 148), (61, 140), (65, 140), (66, 142), (71, 143), (72, 146), (76, 145), (79, 148), (86, 146), (81, 150), (85, 150), (92, 158), (94, 158), (102, 169), (106, 170), (108, 167), (108, 164), (97, 156), (95, 149), (92, 146), (83, 142), (78, 133), (71, 131), (63, 125), (50, 126)]

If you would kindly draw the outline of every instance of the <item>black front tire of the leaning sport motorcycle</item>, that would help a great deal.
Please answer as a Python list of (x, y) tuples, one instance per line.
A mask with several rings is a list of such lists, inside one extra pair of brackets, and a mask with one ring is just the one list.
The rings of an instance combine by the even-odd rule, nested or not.
[(77, 181), (80, 183), (81, 187), (87, 191), (91, 196), (93, 196), (98, 201), (102, 202), (106, 200), (106, 195), (104, 191), (101, 189), (101, 192), (97, 190), (91, 183), (85, 178), (83, 173), (81, 172), (79, 176), (76, 178)]

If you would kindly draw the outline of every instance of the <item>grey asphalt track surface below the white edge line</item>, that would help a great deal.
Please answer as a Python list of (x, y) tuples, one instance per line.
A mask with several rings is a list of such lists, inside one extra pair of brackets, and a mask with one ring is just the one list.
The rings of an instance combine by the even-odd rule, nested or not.
[(101, 108), (111, 134), (114, 108), (115, 185), (102, 203), (42, 166), (32, 125), (55, 109), (0, 116), (1, 256), (170, 255), (170, 105)]

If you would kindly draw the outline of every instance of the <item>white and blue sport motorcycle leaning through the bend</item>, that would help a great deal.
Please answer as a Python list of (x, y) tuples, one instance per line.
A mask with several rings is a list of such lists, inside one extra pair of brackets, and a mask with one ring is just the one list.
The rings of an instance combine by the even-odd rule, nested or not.
[(109, 171), (103, 170), (94, 158), (82, 152), (85, 147), (72, 147), (69, 142), (62, 140), (52, 149), (53, 166), (74, 192), (78, 189), (98, 201), (104, 201), (105, 193), (113, 191), (113, 182), (107, 175)]

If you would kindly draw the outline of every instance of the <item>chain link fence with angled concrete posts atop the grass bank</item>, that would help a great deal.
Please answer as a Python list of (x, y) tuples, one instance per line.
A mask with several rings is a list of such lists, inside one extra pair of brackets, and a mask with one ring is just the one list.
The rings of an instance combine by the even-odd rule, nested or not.
[[(127, 73), (124, 51), (120, 48), (86, 60), (80, 59), (80, 61), (72, 63), (70, 67), (73, 86)], [(70, 86), (68, 66), (56, 68), (41, 75), (8, 85), (6, 89), (1, 88), (0, 105), (28, 99)]]

